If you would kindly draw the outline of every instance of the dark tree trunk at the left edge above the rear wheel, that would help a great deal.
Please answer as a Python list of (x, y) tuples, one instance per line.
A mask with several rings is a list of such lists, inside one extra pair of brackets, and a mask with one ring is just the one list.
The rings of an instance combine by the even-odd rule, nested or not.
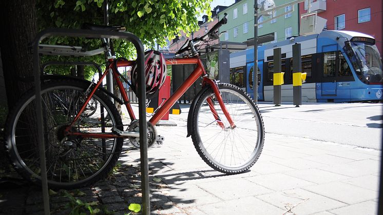
[(29, 46), (37, 32), (35, 3), (35, 0), (0, 1), (0, 47), (9, 110), (32, 86), (17, 77), (33, 75)]

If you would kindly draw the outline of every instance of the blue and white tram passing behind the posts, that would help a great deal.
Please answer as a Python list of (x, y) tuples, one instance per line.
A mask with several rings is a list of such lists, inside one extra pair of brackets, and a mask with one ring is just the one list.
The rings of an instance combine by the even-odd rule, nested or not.
[[(273, 101), (275, 48), (281, 48), (282, 51), (282, 102), (293, 101), (292, 45), (295, 43), (301, 44), (302, 72), (307, 73), (305, 83), (302, 84), (303, 102), (382, 99), (382, 62), (375, 39), (370, 35), (352, 31), (322, 31), (320, 34), (294, 37), (258, 48), (259, 101)], [(237, 55), (244, 53), (246, 72), (243, 77), (246, 84), (243, 85), (247, 93), (253, 95), (254, 49), (247, 49)], [(231, 69), (233, 77), (236, 75), (234, 71), (235, 68)]]

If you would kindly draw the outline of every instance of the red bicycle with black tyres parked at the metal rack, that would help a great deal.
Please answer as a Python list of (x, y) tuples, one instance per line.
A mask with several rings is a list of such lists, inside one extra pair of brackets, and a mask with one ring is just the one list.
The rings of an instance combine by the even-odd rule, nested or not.
[[(147, 122), (147, 140), (149, 146), (156, 142), (157, 122), (196, 80), (202, 78), (202, 89), (190, 105), (187, 136), (191, 136), (197, 152), (210, 167), (237, 174), (253, 166), (262, 151), (262, 117), (247, 93), (234, 85), (210, 79), (197, 52), (204, 42), (219, 37), (216, 31), (226, 22), (224, 17), (206, 35), (187, 41), (177, 52), (177, 56), (186, 52), (183, 57), (166, 60), (167, 65), (196, 64), (197, 68)], [(123, 29), (96, 25), (87, 28)], [(124, 140), (136, 144), (139, 140), (138, 119), (122, 84), (124, 77), (117, 70), (134, 66), (135, 62), (112, 57), (110, 48), (103, 44), (109, 64), (97, 83), (65, 76), (42, 83), (47, 178), (52, 188), (72, 189), (105, 178), (116, 164)], [(109, 72), (116, 80), (122, 100), (100, 87)], [(60, 104), (55, 97), (65, 100), (65, 104)], [(126, 106), (130, 118), (126, 129), (110, 97)], [(89, 101), (97, 103), (95, 111), (83, 114)], [(5, 146), (15, 169), (24, 178), (40, 183), (34, 110), (35, 95), (30, 91), (8, 115)]]

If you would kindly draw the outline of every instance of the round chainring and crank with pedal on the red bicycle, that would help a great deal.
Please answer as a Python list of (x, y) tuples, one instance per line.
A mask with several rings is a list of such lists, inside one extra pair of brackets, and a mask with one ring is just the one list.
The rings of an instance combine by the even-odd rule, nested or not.
[[(163, 136), (157, 135), (157, 130), (154, 126), (152, 126), (149, 122), (147, 123), (147, 142), (148, 142), (148, 148), (151, 147), (153, 144), (163, 144), (163, 141), (165, 138)], [(140, 125), (139, 121), (135, 120), (130, 123), (130, 125), (127, 128), (127, 131), (139, 131)], [(130, 143), (135, 146), (136, 148), (140, 148), (140, 138), (139, 137), (129, 137), (128, 138)]]

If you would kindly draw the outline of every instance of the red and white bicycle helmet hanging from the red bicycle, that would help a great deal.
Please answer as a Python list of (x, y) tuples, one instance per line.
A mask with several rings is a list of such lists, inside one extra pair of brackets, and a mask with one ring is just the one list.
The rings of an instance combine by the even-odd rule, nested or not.
[[(133, 91), (138, 92), (138, 66), (133, 67), (131, 84)], [(145, 52), (145, 85), (146, 96), (151, 97), (165, 82), (166, 61), (164, 55), (155, 50)]]

